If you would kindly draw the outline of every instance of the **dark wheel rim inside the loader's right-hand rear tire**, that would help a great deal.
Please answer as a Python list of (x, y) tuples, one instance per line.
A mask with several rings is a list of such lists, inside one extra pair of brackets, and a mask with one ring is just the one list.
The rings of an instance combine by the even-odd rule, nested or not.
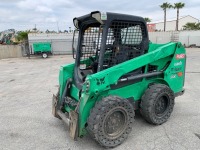
[(169, 106), (169, 98), (166, 95), (160, 96), (155, 104), (155, 114), (157, 116), (162, 116), (165, 114)]

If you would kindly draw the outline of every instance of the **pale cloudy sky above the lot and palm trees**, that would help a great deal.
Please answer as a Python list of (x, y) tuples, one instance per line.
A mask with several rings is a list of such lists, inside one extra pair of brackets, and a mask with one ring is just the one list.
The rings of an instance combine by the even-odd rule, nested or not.
[[(163, 20), (159, 7), (163, 0), (0, 0), (0, 31), (6, 29), (39, 30), (72, 29), (73, 18), (91, 11), (116, 12), (148, 17), (152, 22)], [(185, 3), (180, 16), (191, 15), (200, 19), (200, 0), (168, 0), (174, 4)], [(167, 11), (167, 19), (176, 17), (176, 10)]]

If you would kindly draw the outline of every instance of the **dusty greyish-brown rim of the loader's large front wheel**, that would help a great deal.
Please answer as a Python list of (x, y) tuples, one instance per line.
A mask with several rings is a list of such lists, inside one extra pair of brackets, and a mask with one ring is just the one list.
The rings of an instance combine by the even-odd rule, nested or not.
[(111, 110), (105, 117), (103, 123), (104, 133), (108, 138), (118, 138), (126, 129), (127, 112), (123, 108)]

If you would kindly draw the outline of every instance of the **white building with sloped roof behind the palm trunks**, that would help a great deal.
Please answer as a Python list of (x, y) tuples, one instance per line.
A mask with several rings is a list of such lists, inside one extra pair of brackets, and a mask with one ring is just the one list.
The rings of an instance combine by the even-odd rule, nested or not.
[[(190, 15), (181, 16), (181, 17), (179, 17), (178, 30), (183, 30), (183, 26), (188, 22), (198, 23), (199, 20)], [(155, 22), (154, 24), (155, 24), (155, 28), (157, 31), (164, 31), (164, 22), (163, 21)], [(166, 31), (174, 31), (175, 28), (176, 28), (176, 18), (166, 21)]]

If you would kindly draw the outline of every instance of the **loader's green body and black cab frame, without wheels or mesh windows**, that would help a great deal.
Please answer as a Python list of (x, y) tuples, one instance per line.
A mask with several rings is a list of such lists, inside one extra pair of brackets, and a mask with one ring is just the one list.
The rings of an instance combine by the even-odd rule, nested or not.
[[(138, 44), (141, 46), (139, 48), (141, 51), (137, 57), (134, 56), (104, 68), (107, 54), (106, 46), (110, 44), (107, 41), (109, 27), (116, 18), (122, 22), (128, 22), (128, 24), (143, 25), (143, 37)], [(93, 53), (94, 55), (90, 53), (84, 55), (81, 53), (85, 47), (83, 45), (88, 44), (83, 44), (84, 31), (86, 26), (88, 29), (89, 25), (94, 27), (94, 24), (98, 24), (102, 28), (102, 30), (97, 31), (98, 34), (95, 34), (98, 39), (97, 44), (95, 43), (95, 46), (90, 45), (97, 47), (97, 51)], [(116, 95), (128, 99), (136, 110), (139, 108), (145, 90), (152, 84), (167, 85), (177, 96), (184, 93), (185, 48), (181, 43), (153, 44), (149, 42), (146, 23), (143, 18), (114, 13), (107, 13), (107, 16), (105, 16), (100, 12), (92, 12), (75, 18), (74, 25), (79, 29), (76, 60), (73, 64), (61, 66), (59, 92), (58, 96), (53, 98), (54, 116), (58, 115), (65, 120), (73, 139), (82, 137), (87, 133), (86, 127), (90, 111), (95, 103), (101, 101), (104, 97)], [(100, 34), (102, 34), (101, 39), (99, 38)], [(100, 45), (98, 44), (99, 39)], [(98, 48), (99, 46), (100, 48)], [(112, 48), (109, 47), (108, 49)], [(121, 48), (123, 49), (123, 47)], [(73, 53), (75, 54), (75, 52)], [(99, 57), (97, 69), (95, 72), (93, 70), (93, 73), (87, 73), (85, 78), (81, 78), (80, 71), (87, 70), (87, 67), (91, 69), (91, 57), (94, 59)], [(84, 65), (83, 68), (80, 68), (82, 67), (81, 64)]]

